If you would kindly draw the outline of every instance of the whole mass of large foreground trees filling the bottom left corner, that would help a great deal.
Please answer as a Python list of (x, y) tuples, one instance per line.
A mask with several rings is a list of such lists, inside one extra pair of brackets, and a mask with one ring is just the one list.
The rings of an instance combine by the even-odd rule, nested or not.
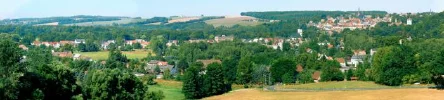
[(2, 99), (164, 98), (162, 91), (148, 91), (153, 78), (136, 77), (130, 69), (134, 67), (127, 68), (132, 61), (118, 50), (111, 50), (105, 63), (90, 62), (53, 57), (49, 49), (39, 47), (23, 51), (4, 38), (0, 40), (0, 59)]

